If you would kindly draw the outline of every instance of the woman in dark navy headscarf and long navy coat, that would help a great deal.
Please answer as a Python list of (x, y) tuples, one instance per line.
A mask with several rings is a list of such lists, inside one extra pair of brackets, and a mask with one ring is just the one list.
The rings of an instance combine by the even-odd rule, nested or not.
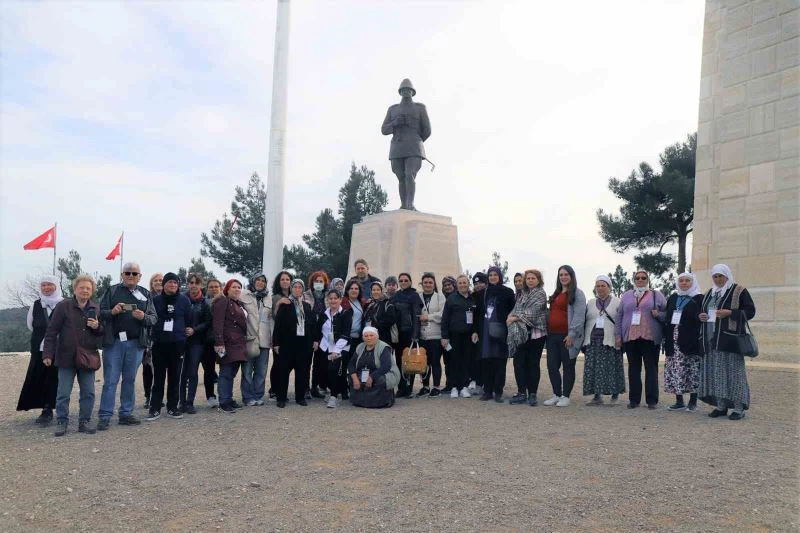
[(506, 319), (514, 308), (514, 291), (503, 285), (503, 272), (490, 267), (486, 272), (489, 284), (483, 298), (477, 302), (478, 335), (481, 339), (481, 365), (483, 370), (483, 396), (487, 401), (503, 403), (508, 361), (508, 327)]

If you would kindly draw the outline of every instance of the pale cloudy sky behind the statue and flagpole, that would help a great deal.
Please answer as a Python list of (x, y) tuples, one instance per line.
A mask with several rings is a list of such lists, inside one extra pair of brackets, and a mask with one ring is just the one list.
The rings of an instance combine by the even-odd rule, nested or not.
[[(417, 207), (452, 216), (464, 268), (559, 264), (588, 280), (632, 254), (598, 236), (608, 178), (696, 129), (703, 2), (293, 0), (287, 243), (335, 208), (351, 161), (399, 207), (380, 134), (409, 77), (436, 162)], [(0, 3), (0, 283), (50, 268), (187, 265), (253, 171), (266, 179), (276, 2)], [(217, 267), (217, 273), (223, 269)], [(586, 283), (586, 281), (584, 281)]]

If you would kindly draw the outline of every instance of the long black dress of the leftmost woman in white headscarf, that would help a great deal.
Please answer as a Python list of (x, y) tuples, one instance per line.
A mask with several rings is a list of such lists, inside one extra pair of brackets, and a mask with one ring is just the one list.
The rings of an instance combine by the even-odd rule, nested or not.
[[(50, 310), (52, 313), (52, 310)], [(31, 360), (28, 363), (28, 372), (25, 382), (19, 393), (17, 411), (29, 409), (53, 409), (56, 405), (56, 389), (58, 389), (58, 369), (54, 366), (44, 366), (42, 351), (39, 349), (50, 322), (47, 310), (42, 307), (42, 301), (33, 302), (33, 333), (31, 333)]]

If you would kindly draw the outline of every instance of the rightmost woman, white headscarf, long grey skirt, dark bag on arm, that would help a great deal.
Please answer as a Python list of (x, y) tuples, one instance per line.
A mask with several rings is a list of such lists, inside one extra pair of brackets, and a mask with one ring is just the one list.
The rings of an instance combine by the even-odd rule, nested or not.
[(708, 416), (741, 420), (750, 408), (750, 387), (744, 368), (744, 354), (739, 353), (736, 335), (745, 332), (745, 324), (756, 315), (753, 298), (733, 279), (727, 265), (711, 269), (714, 286), (703, 297), (700, 309), (700, 343), (703, 366), (700, 370), (700, 399), (713, 405)]

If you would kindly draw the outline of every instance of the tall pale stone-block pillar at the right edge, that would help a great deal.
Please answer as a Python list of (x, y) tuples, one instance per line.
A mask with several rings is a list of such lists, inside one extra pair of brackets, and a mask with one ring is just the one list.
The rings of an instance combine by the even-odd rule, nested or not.
[(800, 0), (707, 0), (692, 268), (726, 263), (764, 359), (800, 362)]

